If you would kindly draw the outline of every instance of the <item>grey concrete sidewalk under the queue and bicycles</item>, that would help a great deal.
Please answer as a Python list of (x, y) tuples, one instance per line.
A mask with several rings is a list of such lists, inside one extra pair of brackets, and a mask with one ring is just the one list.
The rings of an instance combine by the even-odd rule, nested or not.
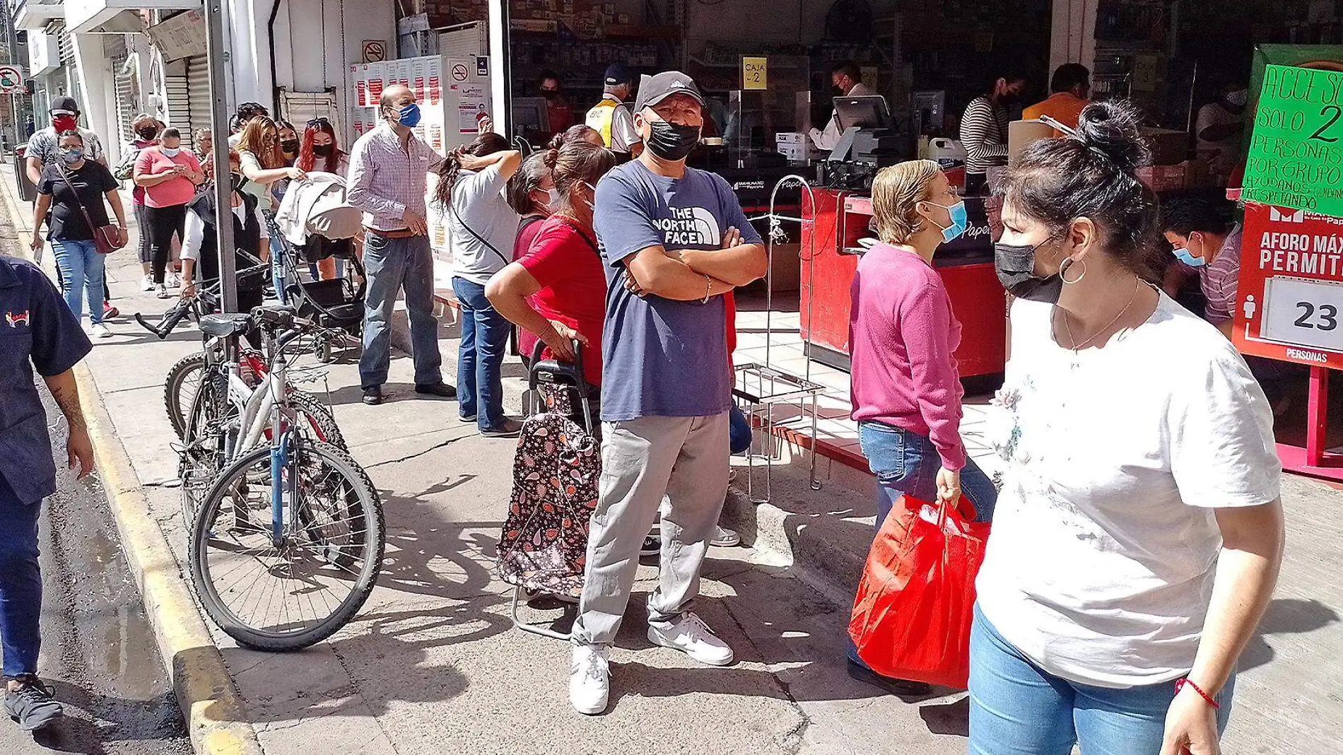
[[(12, 175), (0, 175), (13, 196)], [(16, 224), (28, 223), (20, 216)], [(199, 336), (183, 328), (157, 341), (130, 321), (133, 312), (154, 317), (171, 304), (138, 290), (133, 249), (134, 240), (109, 259), (124, 316), (87, 360), (98, 392), (90, 400), (125, 447), (133, 474), (125, 485), (142, 492), (145, 524), (180, 559), (185, 536), (163, 379), (199, 349)], [(445, 376), (455, 382), (454, 326), (445, 321), (441, 336)], [(736, 488), (729, 494), (729, 524), (756, 547), (710, 551), (697, 611), (736, 649), (732, 668), (696, 666), (650, 646), (643, 599), (655, 568), (642, 567), (612, 653), (611, 711), (583, 717), (567, 700), (568, 648), (513, 630), (510, 591), (494, 576), (513, 441), (458, 423), (454, 402), (416, 398), (403, 355), (392, 361), (392, 400), (380, 407), (360, 403), (349, 359), (324, 372), (308, 388), (329, 388), (351, 450), (381, 493), (388, 549), (369, 602), (329, 642), (265, 654), (210, 626), (227, 669), (218, 681), (240, 693), (238, 708), (212, 715), (254, 729), (267, 755), (306, 755), (314, 746), (400, 755), (964, 751), (963, 696), (904, 703), (845, 674), (845, 601), (872, 527), (864, 476), (822, 459), (821, 492), (798, 463), (776, 473), (770, 505), (752, 506)], [(505, 375), (505, 406), (517, 411), (521, 365), (510, 360)], [(1334, 661), (1343, 649), (1343, 586), (1334, 578), (1343, 525), (1331, 516), (1343, 497), (1297, 478), (1284, 490), (1288, 563), (1242, 664), (1228, 752), (1326, 752), (1343, 738)], [(184, 570), (167, 576), (189, 582)]]

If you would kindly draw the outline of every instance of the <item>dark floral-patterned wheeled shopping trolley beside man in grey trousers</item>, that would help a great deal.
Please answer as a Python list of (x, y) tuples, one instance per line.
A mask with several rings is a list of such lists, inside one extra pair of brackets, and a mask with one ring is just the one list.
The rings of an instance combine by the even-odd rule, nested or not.
[[(536, 408), (522, 423), (513, 459), (513, 493), (500, 537), (498, 570), (513, 586), (513, 626), (568, 639), (569, 635), (524, 622), (517, 615), (524, 594), (547, 594), (575, 602), (583, 594), (588, 521), (596, 508), (602, 447), (595, 434), (591, 398), (576, 360), (541, 360), (537, 343), (528, 369), (524, 407)], [(577, 408), (577, 411), (575, 411)], [(575, 419), (577, 418), (577, 419)]]

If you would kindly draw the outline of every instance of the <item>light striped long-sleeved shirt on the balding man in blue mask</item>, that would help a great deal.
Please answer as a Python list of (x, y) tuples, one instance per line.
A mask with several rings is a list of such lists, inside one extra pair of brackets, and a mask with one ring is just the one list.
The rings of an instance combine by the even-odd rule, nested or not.
[(345, 202), (364, 211), (364, 227), (375, 231), (406, 228), (406, 211), (427, 218), (424, 192), (427, 173), (443, 157), (411, 134), (406, 148), (387, 124), (359, 137), (349, 150), (349, 187)]

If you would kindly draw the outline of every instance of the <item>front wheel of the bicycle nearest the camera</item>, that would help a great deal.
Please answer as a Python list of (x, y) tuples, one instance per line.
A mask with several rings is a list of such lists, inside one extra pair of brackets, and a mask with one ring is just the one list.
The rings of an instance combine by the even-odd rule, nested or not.
[(191, 543), (205, 613), (259, 650), (298, 650), (334, 634), (368, 599), (383, 560), (383, 506), (368, 477), (334, 446), (289, 438), (278, 543), (269, 447), (224, 469)]

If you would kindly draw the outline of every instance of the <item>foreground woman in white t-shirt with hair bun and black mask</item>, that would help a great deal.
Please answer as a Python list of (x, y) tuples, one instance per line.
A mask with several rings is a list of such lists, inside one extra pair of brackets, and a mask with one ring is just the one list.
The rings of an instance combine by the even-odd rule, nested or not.
[(1093, 103), (1003, 181), (995, 263), (1015, 301), (972, 754), (1219, 752), (1277, 578), (1272, 414), (1230, 341), (1148, 282), (1138, 122)]

